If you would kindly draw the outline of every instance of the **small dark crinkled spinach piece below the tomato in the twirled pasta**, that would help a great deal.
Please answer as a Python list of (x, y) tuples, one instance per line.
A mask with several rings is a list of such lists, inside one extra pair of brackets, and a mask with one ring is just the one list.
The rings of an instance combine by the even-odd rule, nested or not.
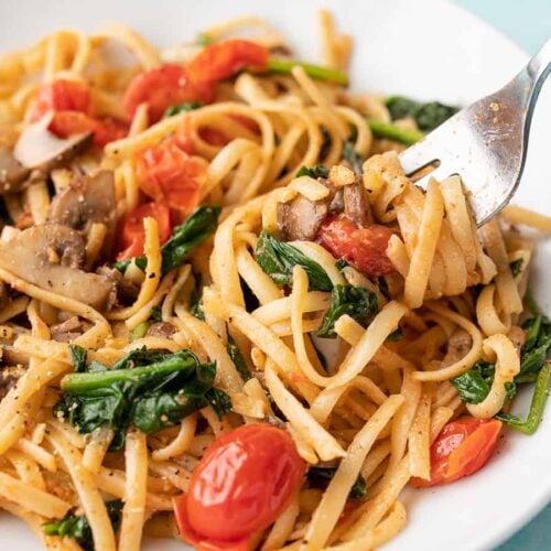
[(367, 327), (378, 311), (377, 296), (363, 287), (335, 285), (331, 291), (331, 306), (316, 331), (318, 337), (335, 338), (335, 323), (344, 314)]

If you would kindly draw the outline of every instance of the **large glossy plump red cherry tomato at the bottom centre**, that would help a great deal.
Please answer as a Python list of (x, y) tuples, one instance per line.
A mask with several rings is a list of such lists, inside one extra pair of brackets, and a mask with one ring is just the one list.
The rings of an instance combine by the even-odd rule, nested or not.
[(302, 483), (306, 465), (291, 436), (253, 423), (218, 437), (173, 500), (180, 533), (198, 549), (246, 550)]

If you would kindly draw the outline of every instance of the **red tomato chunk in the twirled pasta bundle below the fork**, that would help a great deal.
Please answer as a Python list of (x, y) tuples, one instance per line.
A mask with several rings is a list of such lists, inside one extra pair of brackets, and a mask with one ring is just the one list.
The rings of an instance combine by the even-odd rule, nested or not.
[(391, 235), (386, 226), (358, 228), (345, 216), (333, 216), (323, 223), (317, 237), (335, 258), (346, 260), (369, 278), (379, 278), (395, 271), (386, 252)]

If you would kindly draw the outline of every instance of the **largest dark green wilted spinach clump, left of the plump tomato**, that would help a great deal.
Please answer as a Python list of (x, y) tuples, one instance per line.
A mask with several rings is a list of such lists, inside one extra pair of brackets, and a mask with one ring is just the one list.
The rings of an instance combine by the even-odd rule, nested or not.
[(116, 431), (111, 447), (118, 449), (130, 424), (150, 434), (208, 404), (217, 413), (225, 411), (225, 392), (214, 388), (215, 375), (215, 364), (201, 364), (190, 350), (139, 348), (110, 369), (93, 361), (85, 372), (65, 376), (55, 412), (80, 433), (109, 426)]

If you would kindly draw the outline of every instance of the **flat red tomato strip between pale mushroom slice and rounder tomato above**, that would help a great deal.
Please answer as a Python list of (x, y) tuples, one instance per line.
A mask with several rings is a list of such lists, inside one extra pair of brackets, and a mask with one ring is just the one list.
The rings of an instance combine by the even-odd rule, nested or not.
[(104, 147), (128, 133), (128, 126), (115, 119), (94, 119), (79, 111), (56, 111), (48, 130), (60, 138), (80, 132), (94, 132), (94, 143)]

